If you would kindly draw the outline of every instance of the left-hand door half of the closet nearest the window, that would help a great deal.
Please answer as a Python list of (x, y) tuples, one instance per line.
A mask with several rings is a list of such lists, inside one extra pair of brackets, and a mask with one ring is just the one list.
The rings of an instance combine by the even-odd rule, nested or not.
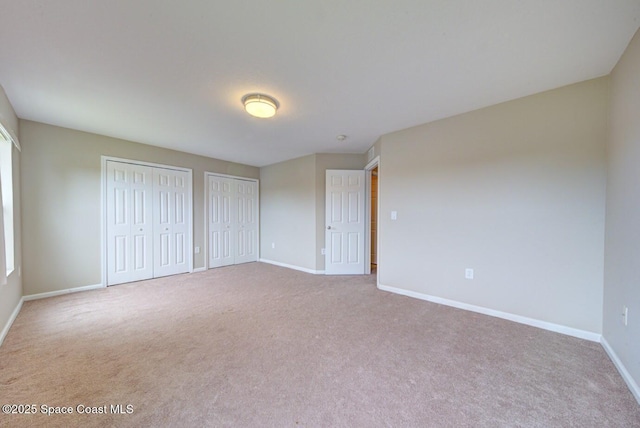
[(153, 168), (107, 162), (107, 285), (153, 277)]

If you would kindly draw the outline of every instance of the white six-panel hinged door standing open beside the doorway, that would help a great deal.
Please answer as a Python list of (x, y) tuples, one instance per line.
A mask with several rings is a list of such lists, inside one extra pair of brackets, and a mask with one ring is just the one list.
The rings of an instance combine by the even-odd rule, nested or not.
[(325, 273), (359, 275), (365, 269), (364, 171), (327, 170)]

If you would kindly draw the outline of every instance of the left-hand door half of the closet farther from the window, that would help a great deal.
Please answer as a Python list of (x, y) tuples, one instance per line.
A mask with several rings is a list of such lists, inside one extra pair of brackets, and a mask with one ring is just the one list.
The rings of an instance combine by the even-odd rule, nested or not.
[(229, 178), (209, 176), (209, 267), (234, 264), (232, 248), (233, 181)]

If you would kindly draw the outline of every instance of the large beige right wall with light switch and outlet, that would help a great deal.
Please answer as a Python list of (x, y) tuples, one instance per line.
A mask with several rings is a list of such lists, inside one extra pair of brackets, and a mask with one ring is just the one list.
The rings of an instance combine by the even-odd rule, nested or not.
[(607, 94), (601, 78), (383, 136), (380, 283), (600, 333)]

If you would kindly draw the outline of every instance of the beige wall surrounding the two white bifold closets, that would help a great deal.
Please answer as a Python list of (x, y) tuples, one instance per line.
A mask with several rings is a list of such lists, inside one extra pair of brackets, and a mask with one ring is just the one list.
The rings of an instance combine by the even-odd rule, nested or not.
[[(86, 132), (20, 121), (24, 294), (101, 283), (101, 156), (193, 169), (194, 247), (205, 247), (204, 173), (259, 169)], [(194, 268), (205, 266), (204, 251)]]

